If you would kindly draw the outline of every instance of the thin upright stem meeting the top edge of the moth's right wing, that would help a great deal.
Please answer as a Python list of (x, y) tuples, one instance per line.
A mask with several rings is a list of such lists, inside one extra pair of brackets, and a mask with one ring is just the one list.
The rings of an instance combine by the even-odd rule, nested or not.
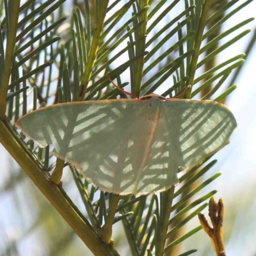
[[(194, 78), (195, 78), (195, 73), (196, 73), (196, 65), (197, 65), (197, 60), (198, 60), (198, 56), (199, 56), (199, 52), (200, 52), (200, 46), (202, 44), (202, 37), (204, 34), (207, 13), (210, 8), (210, 2), (211, 2), (210, 0), (204, 0), (203, 6), (202, 6), (202, 12), (200, 14), (200, 19), (198, 22), (198, 30), (196, 33), (195, 44), (193, 47), (195, 49), (195, 52), (193, 52), (192, 57), (191, 57), (191, 63), (190, 63), (189, 75), (188, 75), (189, 76), (188, 84), (190, 84), (191, 86), (193, 86), (193, 83), (194, 83)], [(186, 92), (186, 95), (185, 95), (186, 99), (191, 98), (191, 91), (192, 91), (192, 88), (190, 88)]]

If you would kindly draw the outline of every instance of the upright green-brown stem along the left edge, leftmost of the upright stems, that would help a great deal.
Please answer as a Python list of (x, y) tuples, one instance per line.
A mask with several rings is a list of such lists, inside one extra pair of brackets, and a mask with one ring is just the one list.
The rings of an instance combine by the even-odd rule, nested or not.
[[(10, 2), (9, 2), (10, 4)], [(8, 84), (12, 72), (13, 54), (16, 42), (17, 24), (19, 19), (20, 0), (14, 0), (12, 3), (12, 13), (10, 13), (10, 29), (6, 42), (6, 56), (4, 60), (4, 72), (2, 81), (0, 81), (0, 118), (4, 118), (6, 111), (6, 97)], [(2, 56), (3, 57), (3, 56)]]

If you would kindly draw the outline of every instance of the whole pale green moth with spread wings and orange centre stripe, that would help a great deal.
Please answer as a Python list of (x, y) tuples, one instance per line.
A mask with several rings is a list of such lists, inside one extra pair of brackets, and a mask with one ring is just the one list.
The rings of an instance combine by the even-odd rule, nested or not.
[(148, 194), (178, 184), (224, 147), (236, 120), (209, 100), (114, 99), (37, 109), (17, 122), (40, 147), (84, 173), (93, 186), (119, 195)]

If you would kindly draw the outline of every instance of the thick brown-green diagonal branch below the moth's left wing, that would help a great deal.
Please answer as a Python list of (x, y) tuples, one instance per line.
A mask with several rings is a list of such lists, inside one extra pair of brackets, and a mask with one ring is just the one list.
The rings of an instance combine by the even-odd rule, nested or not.
[(38, 189), (51, 202), (68, 225), (76, 232), (77, 236), (88, 246), (94, 255), (119, 255), (113, 246), (102, 243), (93, 230), (83, 221), (83, 218), (70, 205), (68, 199), (63, 195), (60, 188), (49, 182), (49, 179), (40, 169), (35, 159), (26, 152), (24, 145), (16, 138), (12, 125), (7, 120), (0, 120), (0, 143), (17, 161), (28, 177), (35, 183)]

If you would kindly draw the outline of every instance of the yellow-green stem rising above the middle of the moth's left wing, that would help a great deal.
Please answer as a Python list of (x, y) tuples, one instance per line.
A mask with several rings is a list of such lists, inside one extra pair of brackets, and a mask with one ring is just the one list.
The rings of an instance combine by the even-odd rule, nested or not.
[(86, 67), (84, 68), (84, 74), (81, 79), (81, 92), (78, 100), (84, 99), (88, 82), (90, 81), (90, 77), (92, 75), (92, 69), (96, 60), (97, 52), (99, 50), (99, 45), (101, 43), (100, 36), (104, 28), (104, 19), (107, 12), (107, 8), (108, 8), (108, 0), (101, 0), (100, 8), (99, 8), (99, 16), (97, 19), (97, 27), (94, 29), (92, 45), (90, 47), (90, 52), (88, 55)]

